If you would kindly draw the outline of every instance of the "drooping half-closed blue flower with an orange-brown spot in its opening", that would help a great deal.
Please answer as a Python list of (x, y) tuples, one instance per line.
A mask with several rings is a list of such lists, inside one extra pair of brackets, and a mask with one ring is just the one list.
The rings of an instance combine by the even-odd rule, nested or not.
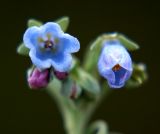
[(131, 57), (122, 44), (118, 40), (105, 41), (98, 61), (98, 71), (108, 80), (109, 86), (123, 87), (132, 70)]

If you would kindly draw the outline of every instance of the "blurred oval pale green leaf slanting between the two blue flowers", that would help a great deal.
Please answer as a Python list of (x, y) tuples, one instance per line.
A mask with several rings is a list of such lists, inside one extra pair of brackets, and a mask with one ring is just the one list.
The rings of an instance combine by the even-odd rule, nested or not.
[(94, 95), (100, 93), (100, 86), (98, 81), (81, 68), (77, 68), (76, 72), (71, 74), (71, 77), (87, 92)]

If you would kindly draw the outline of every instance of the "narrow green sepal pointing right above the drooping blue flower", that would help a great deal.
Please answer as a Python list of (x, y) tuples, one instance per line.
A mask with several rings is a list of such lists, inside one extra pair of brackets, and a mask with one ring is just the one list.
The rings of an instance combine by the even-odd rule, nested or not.
[(139, 49), (139, 45), (133, 42), (132, 40), (128, 39), (123, 34), (118, 34), (117, 39), (124, 45), (129, 51)]

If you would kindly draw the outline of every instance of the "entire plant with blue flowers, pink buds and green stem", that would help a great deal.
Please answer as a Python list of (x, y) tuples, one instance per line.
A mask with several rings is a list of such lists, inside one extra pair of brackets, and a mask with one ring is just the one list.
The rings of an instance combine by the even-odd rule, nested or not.
[(147, 80), (145, 64), (134, 63), (130, 56), (139, 45), (121, 33), (103, 33), (89, 44), (81, 62), (73, 56), (80, 51), (80, 41), (66, 33), (68, 25), (68, 17), (44, 24), (28, 21), (17, 48), (32, 62), (28, 86), (57, 102), (67, 134), (109, 134), (105, 121), (89, 120), (112, 90), (136, 88)]

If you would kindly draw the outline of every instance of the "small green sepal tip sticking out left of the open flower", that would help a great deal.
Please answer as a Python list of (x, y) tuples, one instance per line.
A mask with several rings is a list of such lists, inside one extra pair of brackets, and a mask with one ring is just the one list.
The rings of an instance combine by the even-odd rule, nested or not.
[(22, 43), (17, 48), (17, 53), (20, 55), (28, 56), (29, 55), (29, 49), (25, 47), (25, 45)]

